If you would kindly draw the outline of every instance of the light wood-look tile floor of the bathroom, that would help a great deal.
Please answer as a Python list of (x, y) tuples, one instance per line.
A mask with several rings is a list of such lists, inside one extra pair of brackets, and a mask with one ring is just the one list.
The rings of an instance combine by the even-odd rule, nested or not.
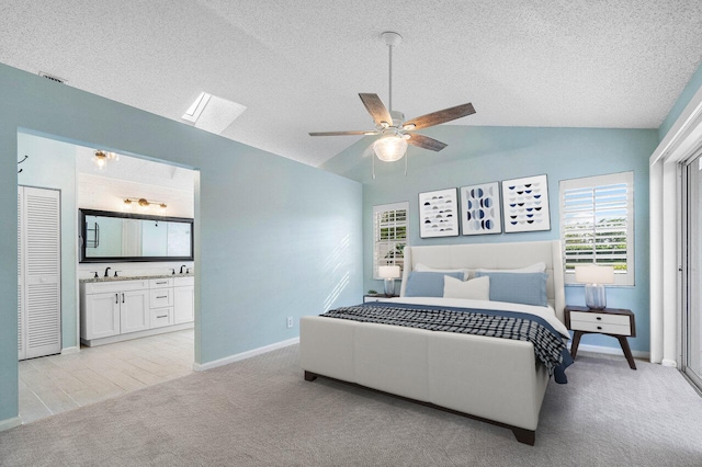
[(192, 329), (20, 362), (22, 423), (193, 372)]

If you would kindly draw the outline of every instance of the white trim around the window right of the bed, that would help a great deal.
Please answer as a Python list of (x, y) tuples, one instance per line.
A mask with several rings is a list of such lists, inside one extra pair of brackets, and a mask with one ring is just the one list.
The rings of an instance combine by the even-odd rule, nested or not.
[(558, 190), (559, 217), (561, 217), (561, 242), (563, 249), (563, 270), (566, 285), (578, 284), (575, 281), (575, 271), (566, 269), (566, 239), (565, 239), (565, 193), (569, 190), (597, 189), (607, 185), (626, 184), (626, 272), (614, 274), (612, 286), (634, 286), (635, 285), (635, 208), (634, 208), (634, 172), (616, 172), (604, 175), (585, 176), (581, 179), (561, 180)]

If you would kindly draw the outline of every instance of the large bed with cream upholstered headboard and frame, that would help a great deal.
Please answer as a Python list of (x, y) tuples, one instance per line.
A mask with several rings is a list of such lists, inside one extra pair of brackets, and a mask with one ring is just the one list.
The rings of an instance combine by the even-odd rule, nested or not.
[[(517, 278), (524, 282), (522, 277), (539, 275), (533, 274), (534, 267), (544, 271), (544, 304), (487, 301), (484, 287), (473, 287), (473, 284), (485, 284), (485, 278), (480, 277), (488, 275), (492, 287), (489, 294), (497, 293), (497, 286), (505, 277), (511, 281), (517, 277), (514, 274), (525, 273)], [(434, 281), (435, 274), (442, 277), (446, 287), (443, 292), (452, 298), (421, 296), (424, 289), (417, 286), (416, 278)], [(450, 284), (458, 287), (460, 297), (449, 293)], [(468, 285), (473, 288), (462, 295), (461, 291), (467, 289)], [(480, 299), (474, 296), (476, 289)], [(434, 289), (426, 293), (435, 295)], [(511, 293), (520, 294), (518, 288)], [(517, 301), (529, 294), (526, 291), (519, 295)], [(363, 307), (367, 309), (370, 305), (372, 310), (407, 307), (424, 311), (428, 307), (454, 311), (466, 308), (468, 310), (461, 311), (473, 309), (480, 314), (485, 310), (533, 311), (537, 316), (535, 320), (547, 320), (547, 326), (543, 326), (557, 332), (552, 334), (557, 335), (556, 341), (563, 349), (568, 338), (563, 324), (565, 293), (559, 241), (407, 247), (400, 297), (382, 301)], [(355, 310), (361, 306), (351, 308)], [(350, 308), (341, 311), (351, 312)], [(519, 442), (533, 445), (539, 413), (553, 373), (551, 364), (547, 367), (536, 355), (539, 349), (534, 342), (434, 329), (439, 328), (328, 316), (302, 317), (299, 349), (305, 379), (312, 381), (325, 376), (410, 399), (508, 428)]]

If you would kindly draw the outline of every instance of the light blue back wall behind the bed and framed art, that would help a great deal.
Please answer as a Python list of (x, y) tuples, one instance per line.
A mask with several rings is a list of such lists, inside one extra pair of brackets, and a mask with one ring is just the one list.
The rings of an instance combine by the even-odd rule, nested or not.
[[(441, 152), (410, 147), (407, 176), (404, 163), (376, 160), (372, 180), (371, 158), (359, 162), (364, 139), (328, 161), (327, 170), (362, 181), (364, 288), (382, 289), (372, 280), (372, 212), (377, 204), (408, 201), (409, 244), (479, 243), (552, 240), (559, 238), (558, 182), (604, 173), (634, 171), (635, 277), (634, 287), (608, 287), (608, 305), (636, 314), (636, 338), (631, 346), (649, 349), (648, 298), (648, 157), (656, 148), (655, 129), (466, 127), (443, 125), (421, 133), (449, 144)], [(548, 176), (551, 230), (524, 234), (419, 238), (418, 194), (530, 175)], [(585, 303), (582, 286), (566, 287), (566, 301)], [(619, 342), (600, 335), (586, 335), (584, 344), (619, 348)]]

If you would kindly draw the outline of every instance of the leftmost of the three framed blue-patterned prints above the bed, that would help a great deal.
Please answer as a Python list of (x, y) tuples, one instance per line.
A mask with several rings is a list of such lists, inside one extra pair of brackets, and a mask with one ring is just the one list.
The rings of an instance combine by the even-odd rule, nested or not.
[(456, 189), (419, 193), (419, 237), (458, 235), (458, 197)]

